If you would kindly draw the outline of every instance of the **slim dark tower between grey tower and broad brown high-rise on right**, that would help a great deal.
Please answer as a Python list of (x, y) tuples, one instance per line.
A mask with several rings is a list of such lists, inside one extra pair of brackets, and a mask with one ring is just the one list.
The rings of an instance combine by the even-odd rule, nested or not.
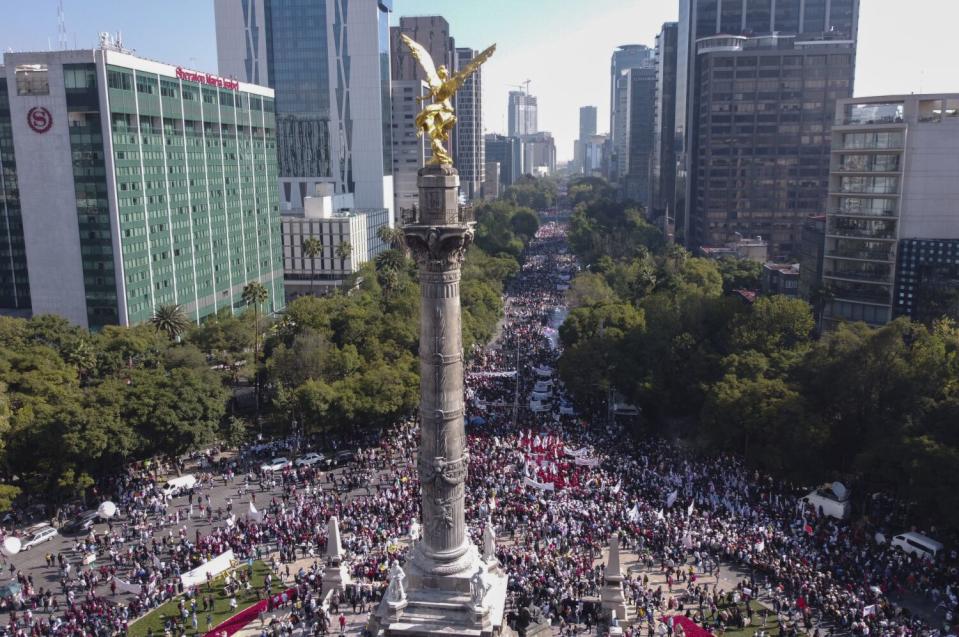
[[(679, 25), (663, 24), (656, 36), (656, 95), (653, 102), (653, 156), (649, 169), (650, 219), (664, 218), (676, 188), (676, 45)], [(667, 195), (667, 193), (669, 193)]]

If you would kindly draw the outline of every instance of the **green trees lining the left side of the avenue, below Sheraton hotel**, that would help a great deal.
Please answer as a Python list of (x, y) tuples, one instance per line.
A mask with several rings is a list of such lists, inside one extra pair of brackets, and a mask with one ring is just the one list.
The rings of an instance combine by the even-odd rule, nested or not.
[[(533, 179), (511, 195), (536, 206), (554, 196)], [(511, 220), (510, 249), (474, 245), (463, 268), (467, 353), (493, 335), (503, 283), (538, 227), (535, 213), (511, 201), (492, 204)], [(390, 249), (342, 290), (296, 299), (277, 317), (264, 316), (268, 295), (258, 281), (244, 288), (246, 311), (224, 308), (200, 325), (176, 306), (157, 307), (146, 324), (97, 333), (54, 316), (0, 317), (0, 511), (17, 497), (88, 495), (130, 462), (174, 459), (217, 440), (240, 444), (251, 414), (228, 406), (230, 387), (242, 381), (261, 381), (258, 408), (278, 434), (294, 420), (311, 434), (372, 431), (412, 413), (417, 269), (401, 231), (380, 238)], [(348, 243), (335, 251), (351, 256)]]

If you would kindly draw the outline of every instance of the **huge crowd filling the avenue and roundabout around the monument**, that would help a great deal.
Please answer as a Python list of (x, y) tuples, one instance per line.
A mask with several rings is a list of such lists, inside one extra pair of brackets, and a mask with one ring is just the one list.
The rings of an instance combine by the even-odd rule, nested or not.
[[(627, 637), (688, 633), (687, 620), (714, 633), (947, 633), (955, 552), (928, 559), (877, 541), (903, 530), (878, 494), (866, 499), (868, 516), (839, 519), (736, 457), (632, 435), (640, 416), (577, 412), (555, 371), (565, 290), (579, 269), (565, 231), (555, 221), (539, 229), (507, 285), (494, 340), (471, 352), (466, 372), (467, 522), (478, 545), (487, 521), (496, 529), (512, 624), (533, 607), (555, 633), (605, 626), (605, 551), (618, 534), (629, 612), (612, 624)], [(214, 595), (228, 600), (227, 615), (269, 600), (250, 634), (362, 631), (419, 533), (417, 437), (407, 419), (330, 437), (310, 463), (270, 463), (309, 451), (288, 438), (208, 450), (166, 473), (131, 466), (98, 491), (115, 515), (8, 551), (0, 632), (123, 635), (176, 600), (157, 631), (207, 633), (222, 615)], [(177, 469), (195, 480), (164, 488)], [(351, 582), (326, 595), (333, 516)], [(14, 527), (6, 523), (3, 539), (23, 546), (36, 532)], [(184, 583), (228, 551), (224, 576)]]

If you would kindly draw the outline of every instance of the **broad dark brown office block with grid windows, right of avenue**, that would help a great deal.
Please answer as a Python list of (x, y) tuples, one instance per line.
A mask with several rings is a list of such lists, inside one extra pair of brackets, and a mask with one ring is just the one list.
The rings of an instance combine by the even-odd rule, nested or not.
[(822, 211), (836, 101), (852, 95), (854, 46), (795, 36), (698, 42), (695, 163), (688, 240), (762, 236), (797, 256), (802, 224)]

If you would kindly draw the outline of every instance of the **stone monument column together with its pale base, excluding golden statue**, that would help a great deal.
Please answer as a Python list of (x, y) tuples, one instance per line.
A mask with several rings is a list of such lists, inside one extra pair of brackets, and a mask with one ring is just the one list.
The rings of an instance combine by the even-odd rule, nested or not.
[[(463, 429), (460, 268), (473, 227), (460, 212), (459, 176), (448, 164), (422, 168), (420, 205), (403, 227), (420, 279), (422, 536), (370, 622), (373, 635), (494, 637), (504, 624), (507, 576), (466, 533), (469, 456)], [(484, 540), (484, 544), (487, 542)]]

